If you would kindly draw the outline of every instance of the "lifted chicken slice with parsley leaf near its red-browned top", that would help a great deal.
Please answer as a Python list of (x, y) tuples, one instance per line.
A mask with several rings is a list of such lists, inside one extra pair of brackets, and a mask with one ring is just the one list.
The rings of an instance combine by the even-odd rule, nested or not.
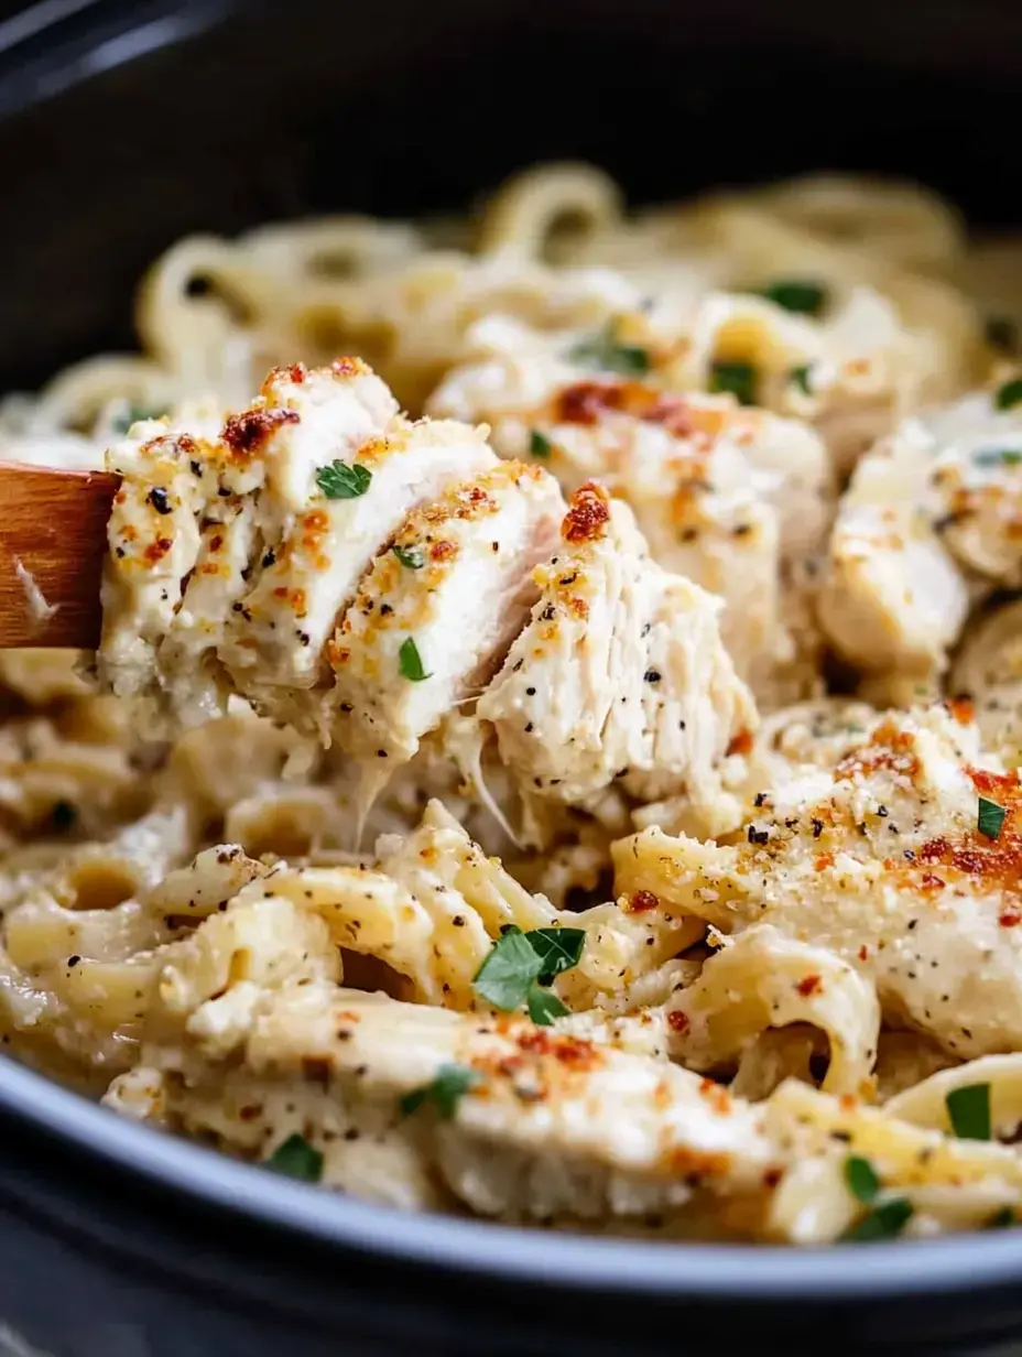
[(387, 387), (356, 360), (290, 372), (271, 376), (224, 430), (232, 449), (263, 460), (265, 550), (219, 653), (270, 715), (281, 702), (286, 715), (288, 689), (326, 677), (334, 623), (404, 516), (495, 463), (480, 430), (398, 418)]

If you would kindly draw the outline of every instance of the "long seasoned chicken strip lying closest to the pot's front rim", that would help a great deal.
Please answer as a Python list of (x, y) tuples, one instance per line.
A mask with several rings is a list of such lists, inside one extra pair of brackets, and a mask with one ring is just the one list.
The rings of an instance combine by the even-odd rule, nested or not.
[[(216, 1003), (189, 1019), (206, 1049), (227, 1045)], [(759, 1193), (764, 1172), (780, 1162), (760, 1130), (761, 1109), (662, 1060), (524, 1019), (479, 1019), (314, 981), (265, 993), (229, 1038), (240, 1038), (244, 1102), (224, 1065), (191, 1064), (187, 1082), (163, 1090), (168, 1122), (216, 1129), (228, 1145), (266, 1153), (286, 1139), (277, 1092), (288, 1090), (290, 1121), (324, 1152), (323, 1181), (361, 1196), (377, 1191), (372, 1177), (352, 1172), (347, 1145), (375, 1126), (375, 1109), (411, 1137), (455, 1198), (505, 1220), (679, 1209), (699, 1187), (723, 1197)], [(428, 1091), (452, 1068), (464, 1071), (466, 1083), (451, 1115), (437, 1117)], [(303, 1079), (312, 1069), (322, 1073), (315, 1083)], [(119, 1088), (107, 1096), (113, 1106)], [(399, 1101), (419, 1090), (425, 1106), (399, 1118)], [(255, 1114), (231, 1115), (239, 1103)], [(345, 1136), (347, 1128), (356, 1134)]]

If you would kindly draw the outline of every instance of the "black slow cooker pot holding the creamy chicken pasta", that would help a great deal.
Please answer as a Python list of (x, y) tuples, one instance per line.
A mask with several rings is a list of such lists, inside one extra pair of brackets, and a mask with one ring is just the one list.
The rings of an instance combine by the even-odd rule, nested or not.
[[(186, 232), (457, 208), (539, 159), (638, 199), (911, 174), (1022, 224), (1019, 75), (1018, 0), (0, 4), (0, 389), (130, 347)], [(1022, 1352), (1022, 1231), (782, 1251), (410, 1217), (3, 1057), (0, 1147), (3, 1357)]]

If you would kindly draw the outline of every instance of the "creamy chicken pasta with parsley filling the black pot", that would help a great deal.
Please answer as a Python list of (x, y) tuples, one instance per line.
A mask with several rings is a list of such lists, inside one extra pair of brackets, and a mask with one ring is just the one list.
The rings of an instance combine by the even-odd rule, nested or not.
[(584, 164), (172, 247), (0, 403), (121, 476), (99, 650), (0, 653), (8, 1053), (400, 1208), (1014, 1225), (1018, 263)]

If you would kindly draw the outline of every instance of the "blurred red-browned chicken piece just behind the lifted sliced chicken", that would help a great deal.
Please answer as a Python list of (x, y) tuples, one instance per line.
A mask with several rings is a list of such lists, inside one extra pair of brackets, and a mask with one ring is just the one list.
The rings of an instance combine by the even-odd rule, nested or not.
[[(654, 560), (725, 600), (725, 646), (756, 695), (784, 673), (782, 700), (808, 696), (818, 646), (814, 630), (786, 626), (780, 588), (782, 571), (814, 555), (829, 527), (820, 438), (730, 396), (669, 395), (651, 377), (593, 372), (521, 327), (505, 323), (499, 347), (499, 323), (493, 328), (494, 351), (453, 372), (430, 410), (486, 419), (502, 456), (542, 457), (567, 491), (599, 478), (632, 508)], [(641, 350), (615, 353), (637, 362)], [(812, 658), (793, 684), (803, 650)]]

